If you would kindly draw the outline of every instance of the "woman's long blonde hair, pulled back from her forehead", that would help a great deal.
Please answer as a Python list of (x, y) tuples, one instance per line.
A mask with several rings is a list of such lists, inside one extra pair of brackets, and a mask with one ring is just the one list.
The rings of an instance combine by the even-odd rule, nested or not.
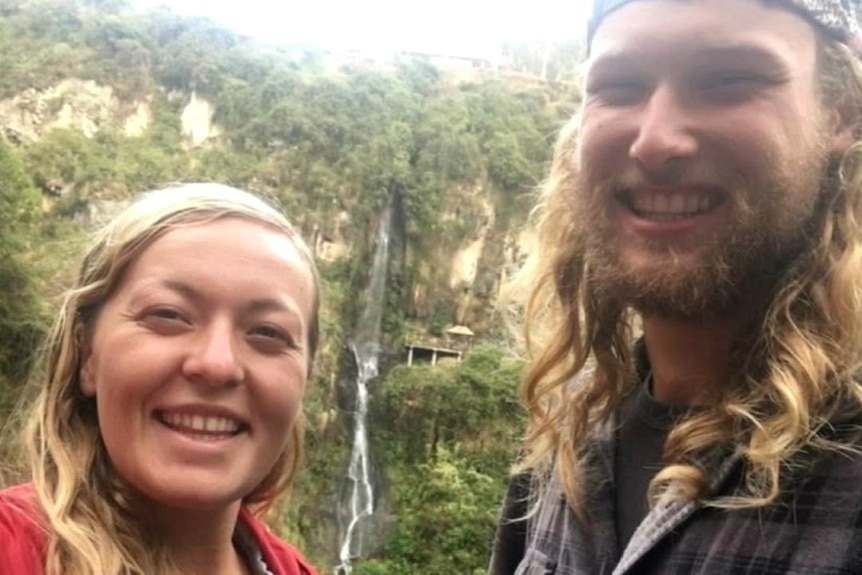
[[(314, 276), (309, 370), (318, 342), (319, 280), (311, 252), (274, 207), (219, 184), (186, 184), (149, 192), (100, 230), (76, 285), (65, 296), (46, 340), (34, 385), (39, 387), (25, 432), (32, 480), (51, 538), (48, 575), (153, 575), (175, 572), (158, 534), (140, 520), (137, 502), (114, 473), (101, 440), (95, 400), (80, 389), (82, 349), (99, 310), (129, 264), (180, 226), (242, 218), (290, 238)], [(303, 448), (302, 416), (272, 470), (243, 500), (263, 512), (289, 490)]]

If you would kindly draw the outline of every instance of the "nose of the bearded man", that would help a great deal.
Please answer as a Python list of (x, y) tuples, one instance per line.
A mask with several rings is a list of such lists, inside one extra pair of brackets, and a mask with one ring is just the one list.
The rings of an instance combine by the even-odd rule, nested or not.
[(659, 173), (672, 160), (695, 156), (698, 141), (691, 120), (692, 110), (679, 91), (668, 85), (657, 86), (641, 108), (629, 157), (645, 171)]

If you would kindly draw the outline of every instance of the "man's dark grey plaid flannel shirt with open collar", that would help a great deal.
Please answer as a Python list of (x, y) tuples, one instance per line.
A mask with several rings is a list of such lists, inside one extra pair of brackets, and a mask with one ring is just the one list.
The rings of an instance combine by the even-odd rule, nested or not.
[[(854, 416), (836, 427), (842, 439), (862, 445), (860, 423)], [(587, 524), (552, 481), (526, 523), (501, 521), (491, 575), (862, 574), (862, 454), (800, 456), (788, 467), (781, 499), (758, 509), (660, 501), (621, 550), (614, 525), (613, 428), (611, 422), (595, 434), (588, 455)], [(738, 489), (738, 454), (715, 452), (702, 464), (712, 470), (712, 493)], [(517, 491), (510, 489), (506, 509), (523, 509)]]

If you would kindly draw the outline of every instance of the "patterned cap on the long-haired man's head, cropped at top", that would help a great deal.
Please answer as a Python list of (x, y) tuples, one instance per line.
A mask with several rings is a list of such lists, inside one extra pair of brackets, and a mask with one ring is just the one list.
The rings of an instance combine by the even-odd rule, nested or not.
[[(602, 19), (613, 10), (631, 2), (649, 0), (593, 0), (588, 42)], [(786, 6), (814, 22), (818, 27), (862, 54), (862, 0), (751, 0), (776, 7)]]

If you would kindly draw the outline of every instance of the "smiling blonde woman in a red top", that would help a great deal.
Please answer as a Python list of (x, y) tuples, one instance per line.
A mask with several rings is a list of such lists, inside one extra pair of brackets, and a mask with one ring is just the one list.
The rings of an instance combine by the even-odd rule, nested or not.
[(318, 339), (311, 254), (245, 192), (151, 192), (95, 238), (0, 491), (0, 573), (315, 574), (257, 519), (291, 485)]

